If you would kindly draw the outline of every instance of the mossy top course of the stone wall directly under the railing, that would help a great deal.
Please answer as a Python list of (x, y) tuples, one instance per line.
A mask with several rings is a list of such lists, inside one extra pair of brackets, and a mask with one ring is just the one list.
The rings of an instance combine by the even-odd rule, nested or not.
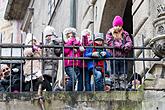
[[(142, 91), (111, 91), (111, 92), (44, 92), (45, 100), (63, 101), (111, 101), (111, 100), (143, 100)], [(14, 99), (30, 101), (37, 97), (37, 92), (2, 93), (0, 101), (11, 101)]]

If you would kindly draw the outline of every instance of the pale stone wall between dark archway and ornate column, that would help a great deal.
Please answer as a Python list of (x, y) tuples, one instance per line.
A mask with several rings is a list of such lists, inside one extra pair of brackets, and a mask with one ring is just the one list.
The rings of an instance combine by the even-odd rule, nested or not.
[[(157, 18), (157, 6), (163, 3), (159, 0), (134, 0), (132, 6), (133, 15), (133, 35), (135, 46), (149, 46), (148, 41), (155, 36), (153, 22)], [(140, 50), (135, 51), (136, 57), (143, 57), (143, 54), (138, 54)], [(152, 58), (154, 54), (145, 50), (144, 56), (146, 58)], [(145, 62), (145, 68), (150, 68), (153, 64), (152, 61)], [(141, 65), (141, 66), (140, 66)], [(143, 62), (136, 62), (136, 72), (143, 73)]]

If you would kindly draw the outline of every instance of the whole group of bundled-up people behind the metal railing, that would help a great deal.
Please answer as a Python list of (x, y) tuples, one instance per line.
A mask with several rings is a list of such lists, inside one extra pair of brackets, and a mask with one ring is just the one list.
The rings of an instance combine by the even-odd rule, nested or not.
[[(141, 76), (134, 73), (128, 80), (128, 62), (106, 59), (127, 57), (133, 47), (130, 35), (122, 28), (120, 16), (114, 18), (112, 26), (105, 37), (102, 33), (92, 34), (89, 29), (82, 30), (79, 37), (77, 30), (69, 27), (63, 31), (63, 39), (56, 35), (53, 27), (47, 26), (44, 29), (44, 45), (54, 46), (51, 48), (39, 47), (37, 38), (28, 33), (25, 45), (31, 47), (24, 49), (24, 56), (50, 59), (25, 60), (23, 69), (20, 65), (4, 64), (0, 69), (0, 91), (19, 92), (20, 80), (23, 91), (37, 91), (39, 84), (46, 91), (137, 90), (142, 83)], [(64, 50), (61, 46), (64, 46)], [(64, 68), (60, 68), (60, 60), (52, 59), (62, 55), (68, 58), (64, 59)], [(81, 57), (87, 59), (74, 59)], [(22, 79), (20, 73), (23, 73)]]

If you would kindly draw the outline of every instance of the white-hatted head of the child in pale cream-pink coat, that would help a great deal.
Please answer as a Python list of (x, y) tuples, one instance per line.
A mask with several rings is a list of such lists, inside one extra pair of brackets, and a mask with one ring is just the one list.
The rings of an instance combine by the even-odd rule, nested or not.
[(31, 33), (28, 33), (26, 35), (26, 40), (25, 40), (25, 44), (26, 45), (35, 45), (37, 43), (36, 37), (33, 36)]

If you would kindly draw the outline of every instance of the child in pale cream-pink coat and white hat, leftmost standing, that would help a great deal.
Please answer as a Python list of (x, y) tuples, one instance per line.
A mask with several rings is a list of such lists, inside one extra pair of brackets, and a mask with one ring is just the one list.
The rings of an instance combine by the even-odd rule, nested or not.
[[(36, 37), (31, 33), (28, 33), (26, 36), (25, 45), (30, 45), (32, 47), (25, 48), (25, 57), (41, 57), (41, 48), (37, 46), (37, 43)], [(43, 81), (43, 76), (41, 73), (41, 61), (25, 60), (23, 70), (26, 83), (25, 91), (37, 91), (39, 84)], [(31, 85), (31, 81), (33, 85)]]

